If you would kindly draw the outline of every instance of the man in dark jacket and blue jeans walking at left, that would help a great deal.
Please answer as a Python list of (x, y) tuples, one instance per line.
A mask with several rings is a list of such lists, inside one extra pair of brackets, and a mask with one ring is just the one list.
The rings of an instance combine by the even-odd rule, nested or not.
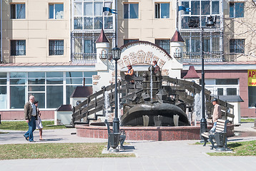
[(30, 95), (29, 101), (24, 105), (24, 115), (29, 130), (24, 134), (24, 138), (29, 142), (34, 142), (33, 132), (36, 129), (36, 106), (34, 105), (34, 95)]

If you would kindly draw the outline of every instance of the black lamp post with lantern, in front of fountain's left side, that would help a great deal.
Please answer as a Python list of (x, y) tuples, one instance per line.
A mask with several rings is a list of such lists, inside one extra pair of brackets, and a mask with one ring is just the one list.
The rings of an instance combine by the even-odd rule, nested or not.
[(120, 59), (121, 56), (121, 49), (117, 46), (112, 48), (112, 58), (115, 62), (115, 84), (114, 84), (114, 120), (113, 120), (113, 133), (119, 133), (119, 118), (118, 118), (118, 111), (117, 111), (117, 61)]

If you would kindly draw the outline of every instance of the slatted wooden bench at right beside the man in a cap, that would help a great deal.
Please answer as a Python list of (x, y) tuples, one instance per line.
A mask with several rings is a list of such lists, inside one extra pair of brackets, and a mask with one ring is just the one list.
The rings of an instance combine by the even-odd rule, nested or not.
[[(216, 136), (220, 136), (221, 133), (224, 133), (224, 134), (227, 133), (227, 123), (228, 122), (229, 122), (229, 120), (218, 119), (215, 132), (210, 133), (210, 130), (207, 130), (206, 132), (201, 133), (201, 136), (205, 141), (204, 146), (206, 145), (207, 140), (210, 140), (210, 142), (212, 143), (212, 149), (213, 149), (216, 140), (220, 140), (220, 138), (217, 138)], [(218, 133), (218, 134), (215, 134), (215, 133)], [(227, 137), (225, 139), (226, 139), (225, 147), (227, 148)], [(213, 140), (215, 140), (215, 141), (213, 141)]]

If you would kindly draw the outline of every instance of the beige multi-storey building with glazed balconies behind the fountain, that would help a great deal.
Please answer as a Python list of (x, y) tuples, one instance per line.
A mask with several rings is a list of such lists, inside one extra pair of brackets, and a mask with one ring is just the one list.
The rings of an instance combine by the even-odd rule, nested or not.
[[(46, 118), (69, 104), (77, 86), (93, 86), (97, 75), (95, 41), (102, 29), (109, 49), (148, 41), (171, 54), (178, 29), (184, 39), (181, 58), (187, 73), (200, 76), (202, 51), (206, 88), (212, 95), (240, 95), (241, 115), (256, 117), (254, 86), (247, 70), (255, 69), (255, 1), (229, 0), (14, 0), (1, 1), (0, 110), (2, 119), (21, 119), (29, 95), (39, 100)], [(178, 5), (177, 5), (178, 3)], [(177, 11), (177, 6), (189, 8)], [(117, 9), (117, 15), (103, 12)], [(208, 16), (216, 24), (206, 28)], [(197, 28), (189, 21), (199, 21)], [(204, 45), (202, 48), (202, 44)], [(176, 53), (175, 53), (176, 54)], [(238, 62), (239, 61), (239, 62)], [(144, 68), (139, 68), (142, 71)], [(109, 82), (107, 82), (109, 83)]]

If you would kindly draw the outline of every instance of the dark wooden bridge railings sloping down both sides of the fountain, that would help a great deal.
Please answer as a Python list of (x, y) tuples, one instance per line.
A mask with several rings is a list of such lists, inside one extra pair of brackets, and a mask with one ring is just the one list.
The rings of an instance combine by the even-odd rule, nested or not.
[[(137, 78), (138, 80), (138, 78)], [(162, 83), (163, 86), (169, 86), (172, 88), (174, 92), (174, 98), (175, 100), (182, 100), (187, 104), (187, 107), (192, 108), (194, 105), (195, 95), (197, 93), (201, 92), (201, 86), (197, 83), (193, 83), (190, 81), (184, 81), (177, 78), (170, 78), (168, 76), (162, 76)], [(136, 83), (135, 83), (136, 84)], [(141, 90), (134, 90), (132, 92), (129, 92), (126, 86), (126, 81), (119, 81), (117, 85), (118, 93), (122, 93), (119, 95), (119, 101), (124, 102), (128, 100), (129, 98), (132, 98), (136, 93), (140, 93)], [(102, 90), (99, 90), (92, 95), (89, 95), (86, 100), (84, 100), (82, 103), (79, 103), (79, 105), (74, 106), (73, 108), (73, 114), (72, 114), (72, 123), (76, 122), (77, 120), (81, 120), (84, 118), (87, 120), (97, 120), (96, 113), (104, 110), (104, 93), (105, 91), (109, 92), (109, 105), (113, 107), (114, 105), (114, 84), (111, 84), (107, 87), (102, 88)], [(128, 93), (129, 92), (129, 93)], [(211, 92), (210, 90), (205, 89), (205, 105), (207, 110), (207, 115), (212, 115), (212, 103), (211, 103)], [(225, 118), (231, 117), (234, 118), (234, 106), (230, 105), (227, 102), (224, 102), (219, 99), (219, 104), (222, 107), (222, 113)], [(114, 106), (115, 107), (115, 106)], [(93, 117), (92, 117), (93, 115)]]

